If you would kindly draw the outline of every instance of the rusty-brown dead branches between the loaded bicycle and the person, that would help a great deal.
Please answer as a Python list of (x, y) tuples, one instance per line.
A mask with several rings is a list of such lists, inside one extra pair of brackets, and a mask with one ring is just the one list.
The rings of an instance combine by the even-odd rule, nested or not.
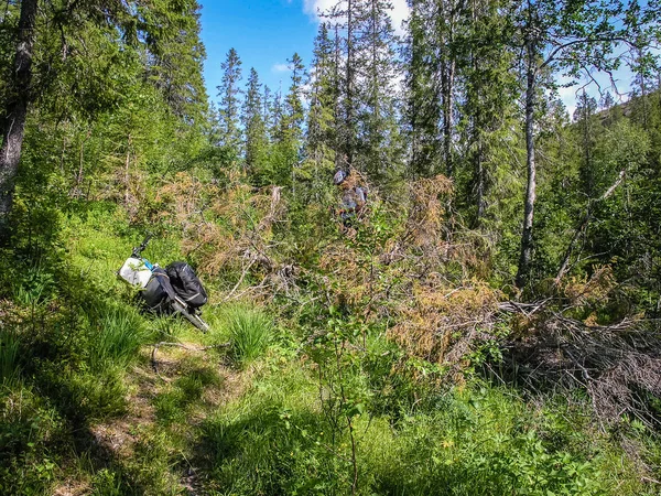
[(237, 176), (220, 188), (181, 173), (156, 200), (160, 216), (181, 226), (183, 251), (196, 259), (199, 274), (237, 273), (238, 281), (223, 300), (242, 295), (239, 290), (248, 274), (262, 279), (250, 288), (253, 295), (291, 285), (295, 269), (279, 260), (273, 237), (273, 226), (285, 213), (281, 187), (254, 190)]

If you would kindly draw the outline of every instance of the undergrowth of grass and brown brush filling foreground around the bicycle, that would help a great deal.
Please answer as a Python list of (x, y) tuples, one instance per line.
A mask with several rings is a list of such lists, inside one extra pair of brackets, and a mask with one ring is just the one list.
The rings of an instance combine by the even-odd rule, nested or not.
[[(581, 389), (503, 384), (520, 322), (492, 319), (477, 241), (444, 240), (449, 185), (423, 186), (409, 217), (376, 193), (345, 231), (241, 185), (201, 220), (207, 240), (177, 206), (144, 255), (209, 262), (208, 335), (117, 280), (145, 228), (113, 205), (62, 215), (51, 255), (3, 251), (0, 493), (654, 494), (648, 427), (599, 424)], [(294, 217), (318, 236), (288, 238)]]

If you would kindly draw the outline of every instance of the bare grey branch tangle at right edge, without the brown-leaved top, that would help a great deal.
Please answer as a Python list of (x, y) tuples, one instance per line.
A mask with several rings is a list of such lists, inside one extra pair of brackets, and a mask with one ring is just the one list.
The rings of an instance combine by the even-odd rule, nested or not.
[(544, 308), (529, 321), (529, 333), (506, 348), (518, 378), (533, 390), (549, 385), (583, 388), (604, 422), (628, 414), (658, 428), (661, 419), (650, 410), (647, 396), (661, 397), (660, 324), (624, 319), (589, 325)]

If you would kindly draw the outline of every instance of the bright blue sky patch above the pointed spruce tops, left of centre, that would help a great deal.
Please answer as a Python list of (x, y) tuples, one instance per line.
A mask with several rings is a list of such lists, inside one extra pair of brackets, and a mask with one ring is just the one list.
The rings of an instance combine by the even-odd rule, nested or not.
[(220, 64), (229, 48), (242, 62), (246, 83), (250, 67), (260, 80), (278, 90), (289, 87), (286, 60), (297, 52), (307, 66), (312, 58), (317, 22), (304, 0), (206, 0), (201, 1), (202, 39), (206, 46), (204, 77), (212, 101), (223, 78)]

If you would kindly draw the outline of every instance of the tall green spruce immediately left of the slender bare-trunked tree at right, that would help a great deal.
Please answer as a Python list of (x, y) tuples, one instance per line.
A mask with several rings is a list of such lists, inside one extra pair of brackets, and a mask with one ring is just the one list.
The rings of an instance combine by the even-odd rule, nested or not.
[[(473, 0), (462, 17), (463, 29), (456, 40), (463, 160), (456, 161), (455, 169), (467, 169), (457, 171), (457, 181), (460, 186), (466, 182), (462, 200), (469, 205), (475, 226), (483, 225), (489, 203), (505, 200), (492, 197), (498, 177), (512, 179), (511, 159), (503, 160), (499, 153), (502, 136), (514, 123), (517, 101), (511, 71), (514, 53), (508, 47), (512, 25), (500, 14), (506, 7), (503, 0)], [(463, 177), (467, 181), (460, 181)]]

